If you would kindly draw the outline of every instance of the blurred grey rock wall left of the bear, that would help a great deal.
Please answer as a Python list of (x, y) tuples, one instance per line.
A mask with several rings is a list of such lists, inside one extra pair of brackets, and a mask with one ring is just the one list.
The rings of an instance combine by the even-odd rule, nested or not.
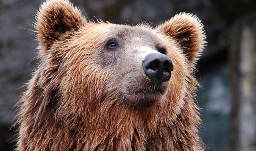
[(20, 87), (30, 79), (32, 64), (35, 65), (36, 42), (24, 28), (32, 29), (28, 20), (33, 21), (32, 14), (39, 3), (28, 0), (0, 3), (0, 149), (6, 151), (13, 145), (6, 143), (13, 139), (9, 131), (15, 116), (13, 107), (24, 90)]

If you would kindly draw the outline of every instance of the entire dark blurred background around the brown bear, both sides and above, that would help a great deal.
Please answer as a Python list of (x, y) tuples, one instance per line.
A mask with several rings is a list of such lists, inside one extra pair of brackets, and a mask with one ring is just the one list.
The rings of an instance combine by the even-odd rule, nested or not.
[[(42, 0), (0, 0), (0, 151), (12, 151), (15, 104), (39, 60), (32, 22)], [(72, 0), (89, 19), (151, 22), (197, 15), (207, 46), (198, 62), (200, 135), (208, 151), (256, 151), (256, 0)]]

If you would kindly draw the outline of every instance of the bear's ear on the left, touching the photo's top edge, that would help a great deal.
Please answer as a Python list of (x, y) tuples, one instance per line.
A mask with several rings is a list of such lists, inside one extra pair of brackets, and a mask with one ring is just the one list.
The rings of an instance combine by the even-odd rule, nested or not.
[(39, 8), (36, 19), (37, 41), (45, 50), (63, 33), (86, 24), (81, 12), (68, 0), (47, 0)]

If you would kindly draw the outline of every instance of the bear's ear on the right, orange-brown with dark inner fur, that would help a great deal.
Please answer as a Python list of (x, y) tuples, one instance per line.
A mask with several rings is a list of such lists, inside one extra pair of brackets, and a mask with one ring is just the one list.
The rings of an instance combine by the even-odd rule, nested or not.
[(173, 37), (186, 56), (188, 64), (192, 68), (195, 67), (206, 43), (203, 25), (196, 16), (179, 13), (158, 26), (156, 30)]

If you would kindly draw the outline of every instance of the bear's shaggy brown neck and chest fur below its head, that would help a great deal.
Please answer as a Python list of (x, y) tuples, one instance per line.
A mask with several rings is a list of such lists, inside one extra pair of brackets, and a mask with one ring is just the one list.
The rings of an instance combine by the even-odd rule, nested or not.
[[(39, 79), (39, 75), (35, 77)], [(197, 148), (201, 146), (197, 134), (198, 107), (189, 94), (185, 96), (184, 107), (176, 114), (175, 105), (170, 103), (140, 112), (113, 103), (88, 106), (84, 102), (102, 101), (72, 98), (80, 100), (75, 102), (57, 92), (57, 89), (44, 89), (33, 83), (23, 95), (20, 102), (24, 103), (17, 121), (21, 123), (19, 151), (200, 150)]]

